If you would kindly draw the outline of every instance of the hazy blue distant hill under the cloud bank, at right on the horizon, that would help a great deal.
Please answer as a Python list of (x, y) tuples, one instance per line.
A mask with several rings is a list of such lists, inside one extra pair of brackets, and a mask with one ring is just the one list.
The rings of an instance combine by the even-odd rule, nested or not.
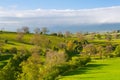
[(107, 24), (84, 24), (84, 25), (72, 25), (72, 26), (55, 26), (49, 28), (50, 31), (71, 31), (71, 32), (104, 32), (120, 30), (120, 23), (107, 23)]

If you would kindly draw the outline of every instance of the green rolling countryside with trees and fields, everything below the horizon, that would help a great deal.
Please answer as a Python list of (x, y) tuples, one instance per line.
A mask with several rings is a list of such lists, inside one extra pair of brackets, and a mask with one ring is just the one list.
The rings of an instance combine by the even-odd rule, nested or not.
[(43, 33), (0, 32), (0, 80), (120, 79), (119, 32)]

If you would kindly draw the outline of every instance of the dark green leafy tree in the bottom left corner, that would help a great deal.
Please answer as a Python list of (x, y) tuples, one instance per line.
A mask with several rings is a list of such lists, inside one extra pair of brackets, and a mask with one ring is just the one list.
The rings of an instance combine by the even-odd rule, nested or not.
[(21, 73), (21, 67), (19, 65), (28, 57), (28, 53), (16, 54), (0, 71), (0, 80), (16, 80), (18, 78), (18, 75)]

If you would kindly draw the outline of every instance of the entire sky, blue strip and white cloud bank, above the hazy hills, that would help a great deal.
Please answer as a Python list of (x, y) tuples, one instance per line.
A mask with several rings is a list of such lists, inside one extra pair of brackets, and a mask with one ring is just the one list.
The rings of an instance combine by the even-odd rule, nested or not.
[(0, 28), (120, 23), (120, 0), (0, 0)]

